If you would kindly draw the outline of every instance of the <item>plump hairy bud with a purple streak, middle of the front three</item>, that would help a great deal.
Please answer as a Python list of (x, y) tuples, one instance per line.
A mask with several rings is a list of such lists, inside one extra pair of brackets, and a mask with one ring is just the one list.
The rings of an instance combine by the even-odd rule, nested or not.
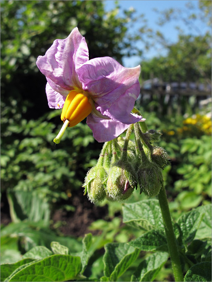
[(106, 192), (114, 200), (128, 199), (136, 185), (132, 174), (133, 168), (129, 163), (116, 162), (109, 170)]

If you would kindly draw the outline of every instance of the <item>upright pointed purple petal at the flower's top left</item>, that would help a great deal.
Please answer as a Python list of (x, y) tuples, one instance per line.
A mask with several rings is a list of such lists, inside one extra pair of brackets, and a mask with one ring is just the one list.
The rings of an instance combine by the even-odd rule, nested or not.
[(51, 81), (67, 90), (82, 88), (75, 65), (88, 61), (88, 46), (84, 37), (74, 28), (66, 39), (56, 39), (44, 56), (39, 56), (37, 66)]

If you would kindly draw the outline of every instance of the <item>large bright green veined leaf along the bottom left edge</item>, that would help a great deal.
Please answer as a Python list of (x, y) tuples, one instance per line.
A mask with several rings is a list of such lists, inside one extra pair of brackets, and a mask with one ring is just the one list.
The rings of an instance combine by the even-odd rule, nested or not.
[(80, 270), (79, 257), (55, 254), (21, 269), (8, 281), (67, 281), (73, 280)]

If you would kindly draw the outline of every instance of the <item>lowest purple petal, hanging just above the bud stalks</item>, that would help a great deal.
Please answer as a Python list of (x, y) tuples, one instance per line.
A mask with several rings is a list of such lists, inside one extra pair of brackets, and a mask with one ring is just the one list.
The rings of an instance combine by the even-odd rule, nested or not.
[(98, 142), (107, 142), (118, 137), (129, 125), (115, 122), (112, 119), (99, 118), (90, 113), (87, 116), (87, 125), (93, 131), (93, 136)]

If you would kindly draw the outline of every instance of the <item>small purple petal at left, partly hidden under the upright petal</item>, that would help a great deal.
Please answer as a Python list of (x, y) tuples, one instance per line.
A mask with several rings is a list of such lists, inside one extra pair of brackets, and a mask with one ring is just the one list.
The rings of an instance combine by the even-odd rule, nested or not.
[(46, 83), (46, 96), (50, 108), (61, 109), (64, 105), (66, 97), (54, 91), (49, 83)]

